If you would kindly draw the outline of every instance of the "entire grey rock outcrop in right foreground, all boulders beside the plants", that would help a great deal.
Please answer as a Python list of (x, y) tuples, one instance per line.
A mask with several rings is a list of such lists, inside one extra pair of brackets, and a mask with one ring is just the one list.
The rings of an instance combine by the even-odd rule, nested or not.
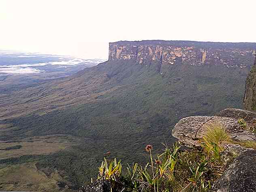
[(225, 144), (223, 158), (228, 162), (228, 154), (237, 156), (224, 174), (215, 181), (214, 192), (254, 192), (256, 190), (256, 150), (234, 144), (240, 142), (256, 142), (256, 134), (238, 123), (245, 119), (247, 126), (256, 125), (256, 113), (241, 109), (228, 108), (220, 111), (218, 116), (191, 116), (181, 119), (173, 129), (173, 136), (186, 146), (200, 146), (200, 140), (207, 124), (220, 124), (229, 132), (233, 143)]

